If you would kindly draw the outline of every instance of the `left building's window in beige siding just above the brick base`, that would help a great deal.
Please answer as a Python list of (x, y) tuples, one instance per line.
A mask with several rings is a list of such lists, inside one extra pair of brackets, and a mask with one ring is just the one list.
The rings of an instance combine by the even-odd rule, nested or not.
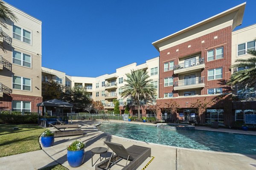
[(19, 76), (12, 77), (12, 88), (20, 90), (31, 90), (31, 79)]

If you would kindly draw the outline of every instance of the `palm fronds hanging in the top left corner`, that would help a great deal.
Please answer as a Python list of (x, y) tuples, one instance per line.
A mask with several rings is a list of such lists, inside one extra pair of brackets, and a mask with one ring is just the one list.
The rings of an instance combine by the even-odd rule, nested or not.
[[(6, 24), (3, 21), (11, 20), (12, 22), (17, 22), (17, 17), (15, 14), (5, 5), (3, 0), (0, 0), (0, 25), (4, 28), (6, 27)], [(0, 31), (0, 38), (4, 38), (4, 34), (2, 31)], [(0, 48), (5, 51), (5, 48), (3, 47), (3, 43), (0, 43)]]

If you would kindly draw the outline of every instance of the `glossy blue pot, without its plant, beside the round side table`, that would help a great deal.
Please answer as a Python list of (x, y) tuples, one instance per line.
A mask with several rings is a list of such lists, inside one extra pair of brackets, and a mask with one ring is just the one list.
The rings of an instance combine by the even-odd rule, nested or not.
[(70, 151), (67, 150), (67, 161), (70, 167), (79, 167), (84, 162), (84, 149)]

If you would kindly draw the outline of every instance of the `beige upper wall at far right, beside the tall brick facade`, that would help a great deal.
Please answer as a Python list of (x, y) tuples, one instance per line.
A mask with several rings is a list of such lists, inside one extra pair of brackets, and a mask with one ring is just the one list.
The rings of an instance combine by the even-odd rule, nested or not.
[[(235, 64), (236, 59), (247, 59), (249, 57), (252, 57), (252, 55), (247, 53), (244, 55), (238, 55), (238, 45), (243, 43), (247, 44), (247, 42), (254, 41), (254, 49), (255, 49), (255, 39), (256, 39), (256, 24), (253, 24), (251, 26), (247, 26), (232, 32), (232, 65)], [(232, 69), (232, 73), (233, 71), (234, 69)]]

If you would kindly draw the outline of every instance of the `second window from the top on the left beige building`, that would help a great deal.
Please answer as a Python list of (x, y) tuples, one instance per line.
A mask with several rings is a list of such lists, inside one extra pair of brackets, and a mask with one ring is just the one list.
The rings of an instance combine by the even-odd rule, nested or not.
[(18, 51), (12, 52), (12, 63), (31, 68), (31, 56), (20, 53)]

